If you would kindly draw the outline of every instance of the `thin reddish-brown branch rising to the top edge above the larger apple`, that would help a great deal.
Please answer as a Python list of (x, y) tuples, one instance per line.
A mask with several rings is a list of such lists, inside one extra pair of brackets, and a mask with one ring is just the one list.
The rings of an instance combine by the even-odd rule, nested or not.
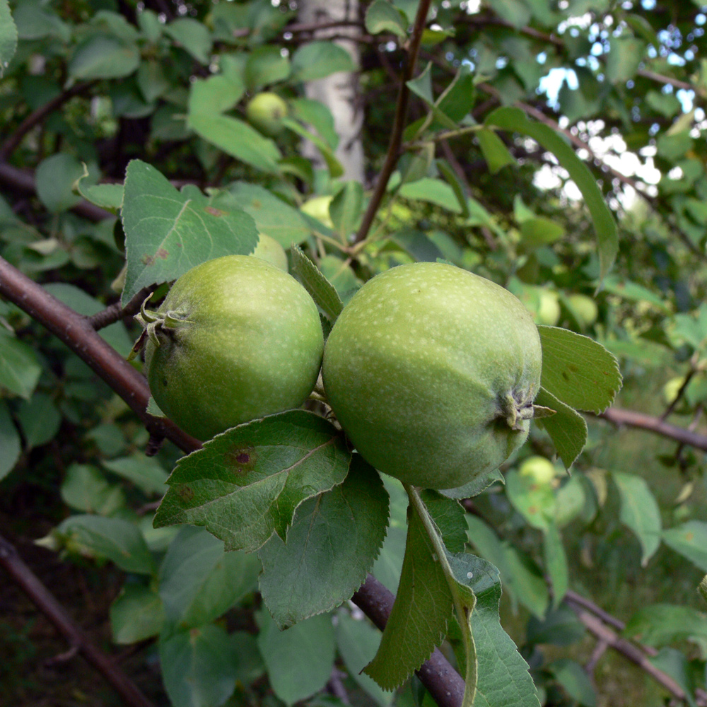
[(378, 175), (378, 181), (375, 183), (375, 189), (373, 189), (373, 194), (368, 202), (366, 213), (363, 214), (363, 218), (361, 219), (361, 227), (358, 228), (358, 233), (356, 233), (356, 237), (354, 238), (354, 243), (360, 243), (362, 240), (366, 239), (370, 226), (373, 224), (375, 214), (378, 212), (380, 202), (385, 196), (385, 189), (387, 188), (390, 176), (393, 170), (395, 170), (395, 165), (397, 165), (397, 160), (400, 156), (402, 133), (405, 128), (407, 108), (410, 102), (410, 89), (407, 86), (407, 82), (411, 80), (415, 72), (417, 54), (420, 49), (420, 42), (422, 40), (422, 33), (425, 28), (430, 2), (431, 0), (420, 0), (420, 4), (417, 8), (412, 35), (408, 40), (407, 62), (400, 78), (400, 90), (395, 104), (395, 117), (393, 118), (392, 132), (390, 134), (390, 144), (385, 154), (385, 162)]

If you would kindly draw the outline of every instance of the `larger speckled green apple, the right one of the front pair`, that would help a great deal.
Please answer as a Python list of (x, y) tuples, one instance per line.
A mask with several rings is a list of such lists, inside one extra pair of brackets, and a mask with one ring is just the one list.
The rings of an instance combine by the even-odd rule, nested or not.
[(329, 334), (322, 376), (373, 467), (454, 489), (525, 442), (541, 364), (537, 327), (518, 298), (453, 265), (421, 262), (356, 293)]

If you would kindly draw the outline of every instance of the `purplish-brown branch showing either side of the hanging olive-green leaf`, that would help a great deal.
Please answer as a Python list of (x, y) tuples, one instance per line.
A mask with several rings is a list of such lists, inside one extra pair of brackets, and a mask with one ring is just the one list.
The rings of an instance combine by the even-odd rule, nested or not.
[[(373, 575), (354, 592), (352, 601), (381, 631), (385, 629), (395, 595), (388, 591)], [(416, 670), (422, 684), (439, 707), (460, 707), (464, 699), (464, 680), (440, 653), (438, 648), (419, 670)]]

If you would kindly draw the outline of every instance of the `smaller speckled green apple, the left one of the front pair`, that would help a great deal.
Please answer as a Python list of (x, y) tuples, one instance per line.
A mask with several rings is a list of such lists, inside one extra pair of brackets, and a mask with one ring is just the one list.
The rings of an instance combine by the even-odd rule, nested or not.
[(227, 255), (197, 265), (170, 289), (159, 345), (145, 348), (151, 393), (166, 416), (201, 440), (299, 407), (317, 380), (324, 339), (317, 306), (291, 275)]

